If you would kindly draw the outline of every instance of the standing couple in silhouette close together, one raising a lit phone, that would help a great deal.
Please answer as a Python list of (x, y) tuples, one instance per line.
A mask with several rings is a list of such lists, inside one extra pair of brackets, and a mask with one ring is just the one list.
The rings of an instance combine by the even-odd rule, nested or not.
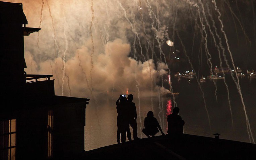
[(133, 95), (129, 94), (128, 99), (126, 99), (126, 95), (120, 95), (120, 97), (116, 101), (117, 105), (117, 143), (120, 143), (120, 135), (121, 142), (124, 143), (127, 138), (131, 141), (131, 131), (130, 126), (133, 130), (133, 140), (139, 139), (137, 137), (137, 111), (135, 103), (132, 102)]

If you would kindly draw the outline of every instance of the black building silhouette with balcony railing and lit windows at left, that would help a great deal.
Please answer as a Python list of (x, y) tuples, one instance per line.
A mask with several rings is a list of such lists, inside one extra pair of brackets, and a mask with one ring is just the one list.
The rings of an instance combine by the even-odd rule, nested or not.
[(0, 159), (62, 159), (84, 152), (89, 99), (56, 96), (52, 75), (24, 72), (22, 4), (0, 2)]

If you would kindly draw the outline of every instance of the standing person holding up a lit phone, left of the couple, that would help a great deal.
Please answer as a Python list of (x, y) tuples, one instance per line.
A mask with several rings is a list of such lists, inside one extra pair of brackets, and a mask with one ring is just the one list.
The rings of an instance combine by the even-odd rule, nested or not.
[[(116, 101), (117, 105), (117, 143), (120, 143), (120, 134), (121, 142), (126, 140), (126, 132), (130, 132), (129, 123), (127, 121), (127, 99), (126, 97), (120, 95)], [(129, 130), (129, 131), (128, 131)], [(131, 134), (131, 132), (130, 132)], [(128, 137), (129, 141), (131, 140)]]

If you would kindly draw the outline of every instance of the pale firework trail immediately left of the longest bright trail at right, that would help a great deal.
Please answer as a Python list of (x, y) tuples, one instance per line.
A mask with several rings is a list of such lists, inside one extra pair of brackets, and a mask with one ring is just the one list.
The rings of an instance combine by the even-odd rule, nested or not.
[[(210, 16), (211, 21), (212, 21), (212, 26), (213, 26), (213, 28), (214, 28), (215, 35), (216, 35), (217, 38), (219, 39), (219, 46), (220, 46), (220, 48), (221, 48), (221, 50), (222, 50), (222, 52), (223, 52), (223, 54), (224, 54), (224, 53), (225, 53), (225, 49), (223, 48), (223, 46), (222, 46), (222, 44), (221, 44), (221, 38), (220, 38), (219, 35), (218, 35), (217, 28), (216, 28), (216, 26), (215, 26), (215, 21), (213, 20), (211, 14), (209, 14), (209, 16)], [(208, 23), (208, 24), (209, 24), (209, 23)], [(209, 28), (210, 28), (210, 26), (209, 26)], [(222, 71), (222, 74), (223, 74), (224, 84), (225, 84), (226, 89), (227, 89), (227, 92), (228, 92), (229, 109), (230, 109), (230, 113), (231, 113), (232, 128), (233, 128), (233, 130), (234, 130), (233, 113), (232, 113), (232, 109), (231, 109), (231, 101), (230, 101), (229, 87), (228, 87), (228, 84), (227, 84), (227, 82), (226, 82), (226, 77), (225, 77), (226, 74), (225, 74), (225, 72), (224, 72), (223, 69), (222, 69), (222, 60), (221, 60), (221, 55), (220, 55), (220, 49), (219, 49), (219, 46), (218, 46), (217, 43), (216, 43), (216, 39), (215, 39), (215, 37), (214, 37), (213, 32), (212, 32), (211, 30), (210, 30), (210, 32), (211, 32), (212, 37), (213, 37), (214, 45), (215, 45), (215, 47), (216, 47), (217, 50), (218, 50), (218, 56), (219, 56), (219, 61), (220, 61), (220, 68), (221, 68), (221, 71)]]

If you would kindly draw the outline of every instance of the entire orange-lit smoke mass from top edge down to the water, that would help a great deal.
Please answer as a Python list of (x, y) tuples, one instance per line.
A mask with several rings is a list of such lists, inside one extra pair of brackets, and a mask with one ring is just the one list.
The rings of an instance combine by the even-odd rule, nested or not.
[[(167, 65), (153, 59), (134, 59), (142, 53), (138, 50), (134, 54), (129, 39), (141, 35), (134, 35), (131, 28), (134, 27), (136, 33), (140, 30), (134, 21), (129, 23), (125, 19), (124, 8), (115, 5), (122, 3), (127, 8), (136, 4), (108, 1), (110, 7), (106, 8), (95, 0), (93, 6), (87, 1), (38, 0), (33, 5), (28, 0), (15, 2), (23, 4), (29, 27), (42, 28), (40, 34), (24, 37), (25, 71), (27, 74), (53, 74), (57, 95), (92, 98), (103, 93), (111, 95), (113, 90), (136, 94), (135, 76), (141, 91), (150, 91), (152, 84), (154, 92), (161, 88), (155, 84), (160, 80), (159, 75), (168, 73)], [(128, 18), (131, 14), (136, 18), (131, 8), (127, 14)], [(164, 37), (164, 33), (158, 34)], [(134, 43), (145, 43), (140, 41)]]

